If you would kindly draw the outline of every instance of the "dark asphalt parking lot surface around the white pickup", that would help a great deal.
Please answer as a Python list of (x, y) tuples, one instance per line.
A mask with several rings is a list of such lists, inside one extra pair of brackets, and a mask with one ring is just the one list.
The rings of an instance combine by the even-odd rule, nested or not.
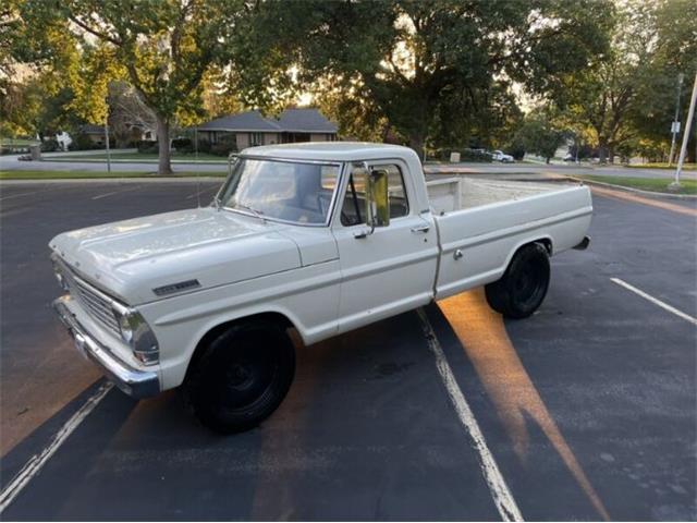
[(594, 204), (590, 248), (552, 258), (531, 318), (473, 291), (303, 348), (280, 410), (220, 437), (175, 392), (101, 393), (49, 307), (54, 234), (195, 206), (196, 184), (2, 185), (2, 519), (500, 520), (487, 460), (526, 520), (697, 519), (697, 206)]

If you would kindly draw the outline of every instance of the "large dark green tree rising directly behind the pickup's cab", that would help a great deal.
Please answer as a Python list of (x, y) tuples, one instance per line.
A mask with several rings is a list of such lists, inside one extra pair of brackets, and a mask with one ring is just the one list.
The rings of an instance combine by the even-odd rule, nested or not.
[(420, 151), (455, 124), (470, 132), (497, 84), (547, 92), (585, 66), (603, 49), (608, 9), (591, 0), (314, 0), (265, 4), (265, 26), (292, 53), (303, 85), (339, 88)]

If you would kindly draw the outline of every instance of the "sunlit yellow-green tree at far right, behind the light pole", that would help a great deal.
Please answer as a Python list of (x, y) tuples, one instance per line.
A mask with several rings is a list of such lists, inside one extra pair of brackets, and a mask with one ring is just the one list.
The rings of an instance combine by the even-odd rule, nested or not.
[(697, 5), (689, 0), (629, 0), (612, 20), (609, 52), (567, 75), (554, 98), (570, 123), (590, 132), (602, 162), (647, 138), (670, 139), (675, 80), (694, 75), (697, 61)]

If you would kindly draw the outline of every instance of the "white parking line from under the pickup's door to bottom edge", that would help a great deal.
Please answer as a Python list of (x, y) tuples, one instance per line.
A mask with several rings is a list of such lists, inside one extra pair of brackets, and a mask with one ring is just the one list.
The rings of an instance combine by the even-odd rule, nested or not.
[(487, 486), (489, 487), (489, 491), (491, 492), (491, 497), (493, 498), (493, 503), (499, 510), (499, 514), (503, 521), (524, 521), (523, 514), (521, 513), (505, 479), (501, 475), (501, 471), (499, 471), (499, 465), (497, 465), (489, 447), (487, 447), (487, 441), (484, 438), (484, 434), (481, 434), (479, 424), (477, 423), (472, 409), (469, 409), (469, 404), (467, 403), (467, 400), (465, 400), (462, 390), (460, 390), (460, 387), (457, 386), (453, 370), (450, 368), (450, 364), (445, 358), (443, 349), (440, 346), (440, 342), (438, 341), (438, 338), (436, 338), (433, 328), (426, 317), (424, 309), (418, 309), (418, 316), (421, 319), (421, 327), (424, 329), (426, 342), (436, 356), (436, 367), (438, 368), (438, 373), (440, 374), (443, 385), (448, 390), (448, 396), (450, 396), (450, 400), (455, 406), (460, 423), (462, 423), (465, 430), (467, 430), (467, 434), (472, 438), (474, 448), (479, 455), (481, 472), (485, 481), (487, 482)]

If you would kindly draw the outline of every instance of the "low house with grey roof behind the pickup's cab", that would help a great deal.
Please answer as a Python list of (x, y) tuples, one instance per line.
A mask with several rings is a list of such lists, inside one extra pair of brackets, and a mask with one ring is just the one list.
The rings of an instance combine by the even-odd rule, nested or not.
[(337, 125), (311, 108), (286, 109), (278, 119), (265, 118), (259, 111), (241, 112), (217, 118), (196, 129), (198, 139), (211, 144), (232, 142), (237, 150), (255, 145), (337, 139)]

